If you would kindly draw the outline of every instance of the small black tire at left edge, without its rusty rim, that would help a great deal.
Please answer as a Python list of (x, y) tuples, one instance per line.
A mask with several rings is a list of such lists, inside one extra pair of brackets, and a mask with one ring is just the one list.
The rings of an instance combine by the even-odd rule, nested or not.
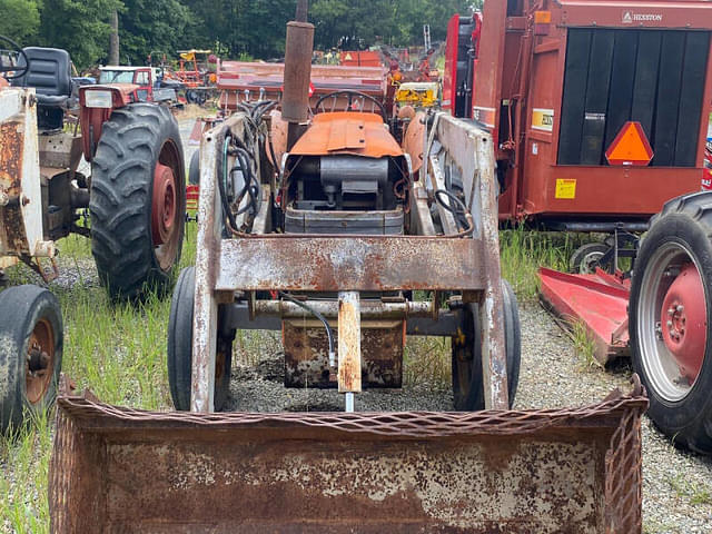
[[(39, 319), (55, 330), (55, 368), (44, 396), (34, 405), (26, 398), (27, 343)], [(39, 414), (55, 402), (62, 365), (62, 314), (59, 301), (39, 286), (13, 286), (0, 293), (0, 435), (20, 428), (24, 414)]]

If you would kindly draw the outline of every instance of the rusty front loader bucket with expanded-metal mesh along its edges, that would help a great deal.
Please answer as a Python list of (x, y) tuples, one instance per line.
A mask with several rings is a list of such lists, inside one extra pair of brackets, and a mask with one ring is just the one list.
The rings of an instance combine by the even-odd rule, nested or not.
[(50, 528), (636, 534), (646, 405), (177, 414), (60, 396)]

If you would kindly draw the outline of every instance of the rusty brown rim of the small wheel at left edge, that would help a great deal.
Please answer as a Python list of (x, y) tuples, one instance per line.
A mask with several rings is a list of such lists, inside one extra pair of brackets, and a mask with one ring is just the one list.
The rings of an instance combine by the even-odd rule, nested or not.
[(24, 365), (24, 392), (30, 404), (39, 403), (49, 388), (55, 369), (55, 329), (40, 319), (28, 343)]

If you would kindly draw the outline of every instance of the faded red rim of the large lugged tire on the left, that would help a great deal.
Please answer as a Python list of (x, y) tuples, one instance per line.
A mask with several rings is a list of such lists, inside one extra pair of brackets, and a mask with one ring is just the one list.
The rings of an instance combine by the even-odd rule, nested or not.
[(151, 238), (161, 270), (169, 270), (178, 256), (182, 238), (181, 221), (185, 198), (180, 151), (168, 140), (160, 150), (154, 171), (151, 198)]

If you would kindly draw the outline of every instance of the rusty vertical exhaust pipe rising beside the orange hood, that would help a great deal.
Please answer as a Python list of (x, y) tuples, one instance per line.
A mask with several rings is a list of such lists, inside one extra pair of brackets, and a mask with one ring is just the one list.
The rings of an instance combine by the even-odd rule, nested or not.
[(304, 132), (309, 118), (309, 82), (314, 52), (314, 24), (307, 22), (308, 0), (298, 0), (296, 20), (287, 23), (285, 46), (285, 91), (281, 96), (281, 118), (289, 123), (287, 150)]

